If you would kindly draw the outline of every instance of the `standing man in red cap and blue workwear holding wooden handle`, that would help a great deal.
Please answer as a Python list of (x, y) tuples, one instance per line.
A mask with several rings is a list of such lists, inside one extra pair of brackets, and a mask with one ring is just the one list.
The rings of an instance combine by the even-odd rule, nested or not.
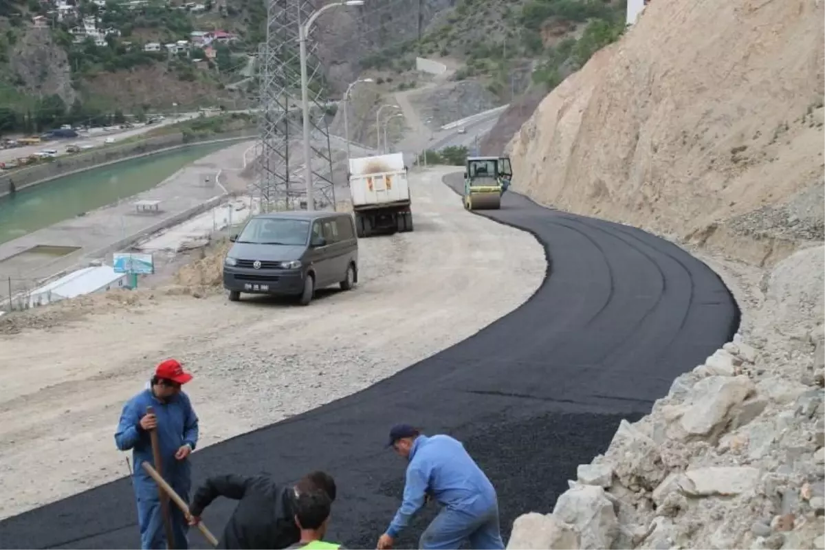
[[(189, 501), (191, 467), (187, 458), (198, 442), (198, 417), (181, 385), (191, 379), (192, 375), (177, 360), (165, 360), (158, 364), (148, 388), (126, 402), (120, 414), (115, 444), (121, 451), (132, 449), (132, 486), (138, 501), (141, 550), (167, 548), (158, 486), (141, 466), (148, 462), (157, 469), (149, 437), (151, 430), (158, 432), (163, 478), (184, 501)], [(146, 413), (150, 406), (154, 411), (151, 415)], [(169, 515), (174, 548), (186, 550), (188, 522), (177, 506), (169, 506)]]

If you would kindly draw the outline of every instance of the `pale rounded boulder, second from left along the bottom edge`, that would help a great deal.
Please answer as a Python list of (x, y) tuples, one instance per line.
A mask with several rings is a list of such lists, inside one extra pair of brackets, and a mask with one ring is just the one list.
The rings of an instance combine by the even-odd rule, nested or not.
[(619, 534), (613, 503), (601, 487), (582, 485), (564, 491), (553, 515), (576, 528), (581, 550), (609, 550)]

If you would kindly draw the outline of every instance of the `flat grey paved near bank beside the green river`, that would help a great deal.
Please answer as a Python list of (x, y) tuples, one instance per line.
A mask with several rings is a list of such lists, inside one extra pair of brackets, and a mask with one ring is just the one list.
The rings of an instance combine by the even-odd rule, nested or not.
[[(25, 294), (92, 261), (111, 261), (112, 252), (243, 190), (238, 172), (251, 146), (248, 140), (208, 154), (148, 191), (0, 244), (0, 303), (7, 308), (9, 294)], [(159, 200), (159, 211), (139, 211), (139, 200)]]

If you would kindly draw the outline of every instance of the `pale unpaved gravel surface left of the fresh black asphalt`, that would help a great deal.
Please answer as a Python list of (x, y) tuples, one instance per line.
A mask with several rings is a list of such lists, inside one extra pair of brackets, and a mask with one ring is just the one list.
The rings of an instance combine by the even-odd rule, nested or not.
[(166, 357), (195, 373), (203, 448), (367, 388), (524, 303), (543, 247), (466, 213), (446, 172), (411, 173), (415, 231), (362, 239), (361, 283), (309, 308), (155, 290), (0, 336), (0, 519), (123, 477), (120, 407)]

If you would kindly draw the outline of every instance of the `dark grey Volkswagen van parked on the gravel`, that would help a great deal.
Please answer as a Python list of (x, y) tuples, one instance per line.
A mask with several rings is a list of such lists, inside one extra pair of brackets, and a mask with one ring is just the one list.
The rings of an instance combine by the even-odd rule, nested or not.
[(224, 258), (224, 288), (241, 293), (291, 295), (302, 305), (315, 290), (358, 282), (358, 238), (351, 214), (305, 210), (258, 214)]

